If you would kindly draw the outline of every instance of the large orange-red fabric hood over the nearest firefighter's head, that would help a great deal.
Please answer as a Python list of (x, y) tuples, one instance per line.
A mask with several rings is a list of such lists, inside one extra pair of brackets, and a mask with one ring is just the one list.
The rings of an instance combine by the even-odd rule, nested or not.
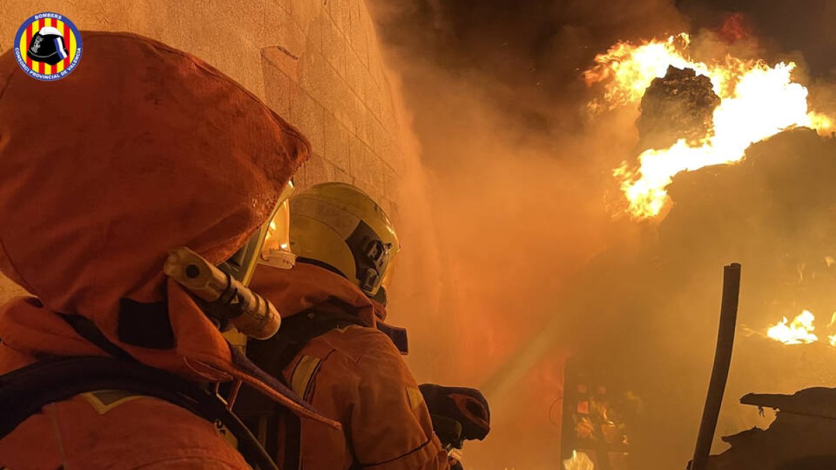
[(77, 69), (54, 82), (0, 56), (0, 270), (50, 309), (102, 324), (122, 298), (163, 298), (167, 250), (232, 254), (308, 142), (200, 59), (82, 35)]

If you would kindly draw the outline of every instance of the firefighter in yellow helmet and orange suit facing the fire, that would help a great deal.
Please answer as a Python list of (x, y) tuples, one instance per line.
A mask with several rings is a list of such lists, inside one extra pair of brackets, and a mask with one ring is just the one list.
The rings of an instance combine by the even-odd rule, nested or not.
[[(236, 411), (250, 418), (284, 470), (456, 465), (448, 451), (461, 442), (442, 445), (434, 424), (452, 422), (454, 440), (482, 439), (487, 401), (478, 391), (457, 390), (465, 412), (431, 417), (401, 358), (405, 331), (383, 323), (385, 288), (400, 248), (389, 218), (357, 187), (322, 183), (290, 198), (289, 241), (295, 266), (260, 264), (252, 279), (253, 289), (282, 312), (283, 330), (249, 341), (247, 355), (340, 421), (344, 432), (253, 405), (257, 400), (247, 396)], [(434, 389), (434, 401), (446, 400), (446, 391)]]

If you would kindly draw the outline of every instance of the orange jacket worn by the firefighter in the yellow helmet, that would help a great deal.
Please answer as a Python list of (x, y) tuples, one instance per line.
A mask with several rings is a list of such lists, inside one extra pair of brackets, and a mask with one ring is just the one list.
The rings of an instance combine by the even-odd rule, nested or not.
[(382, 305), (339, 274), (308, 263), (292, 269), (259, 265), (251, 285), (283, 316), (341, 311), (369, 325), (315, 337), (283, 372), (293, 391), (344, 430), (303, 421), (301, 468), (449, 468), (415, 378), (390, 338), (375, 328), (385, 319)]

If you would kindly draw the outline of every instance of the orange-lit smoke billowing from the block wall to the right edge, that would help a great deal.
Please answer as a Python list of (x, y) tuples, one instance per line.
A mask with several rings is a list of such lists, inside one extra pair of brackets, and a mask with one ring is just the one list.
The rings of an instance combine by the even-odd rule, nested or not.
[[(684, 467), (710, 374), (721, 267), (743, 263), (741, 322), (752, 331), (804, 302), (798, 263), (826, 254), (829, 226), (815, 214), (830, 210), (831, 195), (799, 191), (836, 173), (822, 164), (806, 173), (810, 181), (793, 169), (828, 161), (829, 144), (776, 137), (752, 149), (751, 164), (677, 177), (662, 222), (613, 217), (621, 199), (612, 169), (635, 158), (637, 114), (591, 119), (594, 90), (581, 72), (619, 39), (716, 28), (724, 9), (688, 18), (663, 0), (370, 7), (395, 71), (409, 156), (390, 319), (410, 329), (419, 381), (479, 386), (491, 401), (492, 434), (466, 445), (466, 467), (559, 467), (563, 365), (572, 356), (604, 364), (614, 386), (643, 399), (635, 468)], [(752, 28), (755, 36), (734, 46), (738, 56), (792, 50), (762, 39), (761, 23)], [(728, 48), (710, 33), (695, 47)], [(810, 81), (827, 83), (821, 70), (811, 64)], [(824, 86), (816, 94), (836, 96)], [(799, 204), (813, 208), (793, 212)], [(821, 283), (829, 272), (816, 266)], [(823, 285), (808, 298), (836, 308), (824, 306)], [(804, 360), (781, 348), (761, 335), (738, 341), (718, 435), (764, 424), (737, 410), (742, 392), (809, 382), (790, 367)], [(760, 360), (766, 370), (786, 376), (759, 375), (761, 354), (775, 358)], [(756, 390), (770, 384), (781, 390)]]

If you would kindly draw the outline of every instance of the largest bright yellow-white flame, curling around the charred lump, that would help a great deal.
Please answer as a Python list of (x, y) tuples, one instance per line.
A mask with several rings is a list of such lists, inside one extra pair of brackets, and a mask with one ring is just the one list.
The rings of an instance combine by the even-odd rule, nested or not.
[(832, 118), (808, 110), (808, 91), (793, 83), (792, 62), (771, 67), (762, 60), (731, 56), (711, 64), (696, 62), (688, 54), (690, 40), (681, 33), (639, 45), (616, 43), (584, 72), (587, 84), (604, 84), (603, 98), (589, 104), (594, 112), (635, 105), (653, 79), (665, 76), (669, 65), (705, 75), (721, 99), (714, 110), (713, 130), (696, 146), (679, 140), (670, 148), (642, 153), (638, 168), (625, 162), (614, 170), (630, 203), (628, 212), (636, 218), (661, 212), (668, 202), (665, 188), (681, 171), (740, 161), (752, 143), (788, 128), (810, 127), (821, 133), (833, 128)]

